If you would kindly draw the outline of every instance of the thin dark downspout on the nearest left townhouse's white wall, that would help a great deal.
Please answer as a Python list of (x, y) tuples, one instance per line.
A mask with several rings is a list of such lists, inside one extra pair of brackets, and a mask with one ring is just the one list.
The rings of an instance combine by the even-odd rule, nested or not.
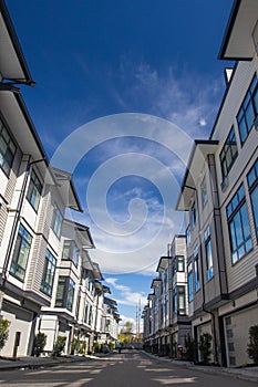
[[(29, 157), (29, 159), (30, 159), (30, 157)], [(23, 184), (22, 184), (22, 188), (21, 188), (21, 194), (20, 194), (20, 197), (19, 197), (18, 206), (17, 206), (17, 209), (14, 210), (16, 211), (14, 221), (13, 221), (11, 236), (10, 236), (9, 243), (8, 243), (6, 260), (4, 260), (3, 268), (2, 268), (1, 291), (3, 291), (3, 289), (6, 286), (6, 282), (7, 282), (8, 264), (9, 264), (9, 260), (10, 260), (10, 257), (11, 257), (12, 247), (13, 247), (13, 243), (14, 243), (14, 238), (16, 238), (16, 234), (17, 234), (17, 229), (18, 229), (18, 224), (19, 224), (19, 220), (20, 220), (22, 205), (23, 205), (24, 197), (25, 197), (25, 190), (27, 190), (28, 179), (29, 179), (29, 176), (30, 176), (30, 172), (31, 172), (31, 167), (32, 167), (32, 165), (38, 164), (38, 163), (42, 163), (42, 161), (45, 161), (45, 158), (41, 158), (41, 159), (34, 160), (34, 161), (29, 161), (28, 165), (27, 165), (27, 168), (25, 168), (25, 177), (24, 177), (24, 180), (23, 180)], [(0, 305), (0, 312), (1, 312), (1, 306), (2, 305)]]

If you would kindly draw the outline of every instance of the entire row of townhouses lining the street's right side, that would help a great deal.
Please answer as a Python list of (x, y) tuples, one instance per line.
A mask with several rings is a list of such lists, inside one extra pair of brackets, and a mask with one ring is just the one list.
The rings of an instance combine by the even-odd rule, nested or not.
[(145, 346), (182, 356), (211, 335), (213, 363), (250, 363), (258, 324), (258, 2), (236, 0), (219, 52), (234, 61), (208, 139), (195, 140), (178, 195), (187, 228), (157, 265), (144, 308)]

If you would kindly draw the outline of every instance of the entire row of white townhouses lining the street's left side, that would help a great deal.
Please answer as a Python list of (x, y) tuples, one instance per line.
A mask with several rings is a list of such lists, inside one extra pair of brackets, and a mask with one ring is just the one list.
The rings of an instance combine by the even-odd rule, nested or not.
[[(0, 0), (0, 316), (10, 322), (1, 355), (45, 353), (65, 336), (84, 353), (117, 338), (116, 303), (109, 299), (86, 226), (65, 219), (82, 211), (72, 176), (51, 167), (19, 87), (33, 85), (6, 3)], [(78, 348), (78, 347), (76, 347)], [(79, 351), (79, 349), (78, 349)]]

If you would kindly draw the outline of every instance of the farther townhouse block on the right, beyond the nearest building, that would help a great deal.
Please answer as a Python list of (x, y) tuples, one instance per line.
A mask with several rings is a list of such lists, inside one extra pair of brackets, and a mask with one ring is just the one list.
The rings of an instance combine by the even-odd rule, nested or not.
[(185, 236), (175, 236), (167, 257), (158, 261), (158, 275), (143, 311), (144, 343), (148, 351), (178, 357), (190, 332), (188, 320), (187, 258)]

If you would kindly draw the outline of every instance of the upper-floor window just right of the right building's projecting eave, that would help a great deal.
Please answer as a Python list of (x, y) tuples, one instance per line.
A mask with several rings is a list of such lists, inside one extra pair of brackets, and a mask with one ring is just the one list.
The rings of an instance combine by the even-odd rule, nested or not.
[(219, 155), (223, 180), (225, 180), (225, 178), (228, 176), (228, 172), (231, 169), (237, 156), (238, 156), (237, 142), (235, 136), (235, 129), (233, 126), (226, 139), (226, 143), (224, 144), (223, 150)]

